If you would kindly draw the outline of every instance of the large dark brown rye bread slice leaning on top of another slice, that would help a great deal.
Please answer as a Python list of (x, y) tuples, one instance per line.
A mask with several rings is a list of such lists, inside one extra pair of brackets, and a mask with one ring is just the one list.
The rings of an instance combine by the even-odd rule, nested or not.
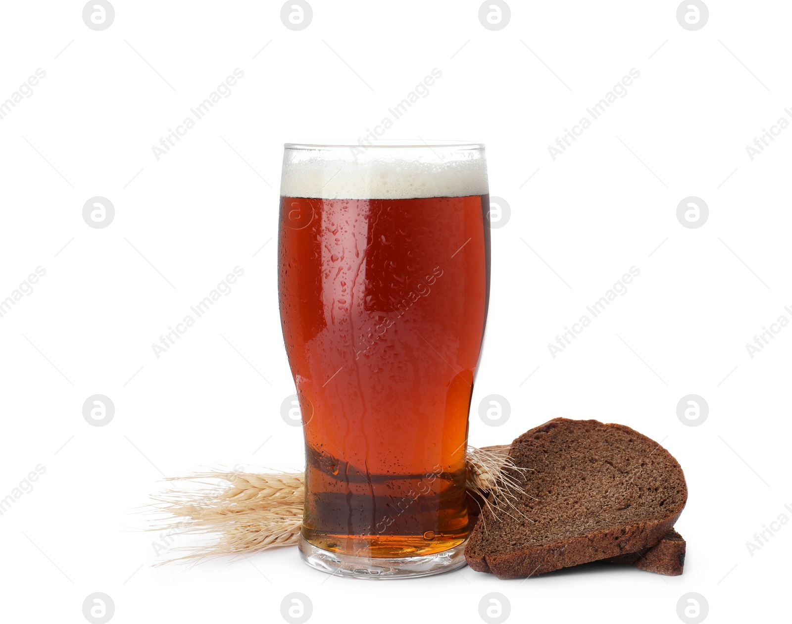
[(517, 510), (482, 512), (465, 548), (468, 565), (520, 578), (650, 548), (687, 500), (679, 463), (622, 424), (555, 418), (515, 439), (509, 456)]

